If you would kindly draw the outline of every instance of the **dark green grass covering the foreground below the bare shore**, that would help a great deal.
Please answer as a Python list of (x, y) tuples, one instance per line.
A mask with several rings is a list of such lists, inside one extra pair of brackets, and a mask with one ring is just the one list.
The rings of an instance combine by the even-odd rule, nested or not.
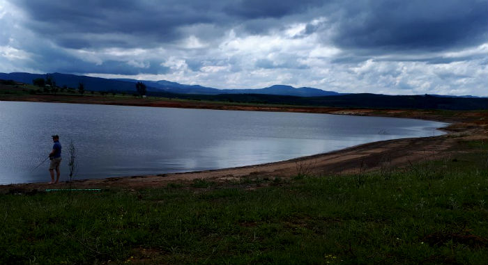
[(465, 147), (360, 175), (0, 195), (0, 264), (485, 264), (488, 146)]

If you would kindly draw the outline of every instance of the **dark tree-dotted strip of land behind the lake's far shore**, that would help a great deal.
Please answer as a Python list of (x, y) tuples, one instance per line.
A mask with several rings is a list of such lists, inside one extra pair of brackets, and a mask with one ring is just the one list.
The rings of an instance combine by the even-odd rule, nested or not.
[[(40, 80), (45, 80), (41, 82)], [(79, 83), (78, 88), (56, 86), (56, 82), (40, 79), (34, 83), (38, 86), (17, 84), (15, 81), (2, 81), (0, 99), (5, 95), (79, 95), (79, 96), (109, 96), (127, 99), (130, 97), (153, 97), (153, 99), (185, 99), (197, 102), (213, 102), (223, 104), (266, 104), (287, 106), (327, 106), (335, 108), (374, 108), (374, 109), (445, 109), (445, 110), (487, 110), (487, 98), (439, 97), (433, 95), (375, 95), (349, 94), (324, 97), (296, 97), (288, 95), (264, 94), (220, 94), (220, 95), (192, 95), (167, 92), (146, 91), (144, 83), (135, 84), (131, 91), (93, 91)], [(49, 85), (49, 83), (51, 85)]]

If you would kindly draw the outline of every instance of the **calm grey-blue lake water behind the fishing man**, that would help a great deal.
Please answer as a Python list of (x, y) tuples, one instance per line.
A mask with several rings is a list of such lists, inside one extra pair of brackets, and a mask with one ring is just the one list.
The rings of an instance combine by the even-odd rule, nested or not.
[(78, 151), (76, 179), (246, 166), (393, 138), (443, 122), (310, 113), (0, 102), (0, 184), (49, 182), (52, 134)]

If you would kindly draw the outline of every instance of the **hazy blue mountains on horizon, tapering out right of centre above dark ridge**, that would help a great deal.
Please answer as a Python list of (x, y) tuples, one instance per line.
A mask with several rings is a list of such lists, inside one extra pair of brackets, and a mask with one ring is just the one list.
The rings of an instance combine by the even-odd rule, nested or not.
[[(293, 86), (275, 85), (268, 88), (258, 89), (217, 89), (198, 85), (184, 85), (181, 83), (160, 80), (136, 80), (136, 79), (104, 79), (98, 77), (86, 77), (75, 74), (52, 73), (51, 77), (56, 81), (57, 86), (68, 86), (77, 88), (78, 83), (83, 83), (86, 90), (96, 91), (134, 91), (135, 83), (143, 82), (148, 91), (166, 92), (176, 94), (196, 95), (219, 95), (219, 94), (266, 94), (266, 95), (290, 95), (297, 97), (321, 97), (331, 95), (345, 95), (333, 91), (325, 91), (317, 88), (293, 88)], [(30, 74), (24, 72), (13, 72), (10, 74), (0, 73), (0, 79), (14, 80), (22, 83), (32, 83), (33, 79), (45, 78), (45, 74)]]

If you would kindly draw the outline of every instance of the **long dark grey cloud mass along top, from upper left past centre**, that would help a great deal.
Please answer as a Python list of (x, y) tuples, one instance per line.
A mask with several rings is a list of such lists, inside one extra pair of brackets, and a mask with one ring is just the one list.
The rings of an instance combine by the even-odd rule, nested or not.
[[(71, 49), (154, 47), (185, 38), (184, 26), (213, 25), (220, 31), (200, 32), (219, 38), (241, 25), (245, 33), (264, 34), (280, 27), (278, 19), (306, 12), (321, 1), (28, 1), (14, 2), (27, 14), (25, 26)], [(116, 38), (101, 38), (112, 34)], [(113, 37), (113, 36), (112, 36)]]

